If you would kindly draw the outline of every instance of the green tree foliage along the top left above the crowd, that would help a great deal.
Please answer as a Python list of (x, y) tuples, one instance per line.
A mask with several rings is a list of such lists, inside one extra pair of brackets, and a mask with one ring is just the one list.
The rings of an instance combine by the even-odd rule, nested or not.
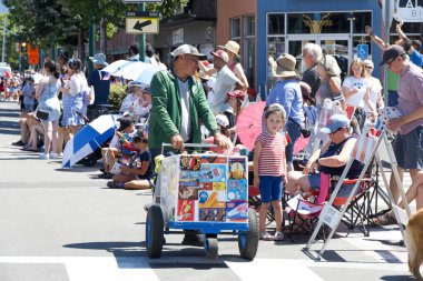
[[(147, 4), (146, 10), (159, 11), (169, 18), (189, 0), (163, 0)], [(51, 36), (61, 46), (77, 46), (78, 36), (86, 34), (90, 23), (107, 22), (107, 36), (111, 38), (125, 27), (125, 12), (137, 10), (137, 4), (124, 4), (110, 0), (3, 0), (9, 8), (11, 23), (18, 28), (20, 40), (50, 46)], [(86, 31), (85, 33), (82, 31)]]

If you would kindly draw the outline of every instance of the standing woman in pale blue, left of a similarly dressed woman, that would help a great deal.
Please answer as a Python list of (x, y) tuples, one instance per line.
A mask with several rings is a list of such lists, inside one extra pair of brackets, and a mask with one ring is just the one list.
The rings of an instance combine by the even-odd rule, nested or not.
[[(48, 112), (47, 120), (41, 120), (45, 129), (45, 152), (40, 154), (40, 159), (58, 158), (58, 127), (60, 118), (60, 101), (57, 97), (59, 88), (59, 71), (53, 61), (46, 61), (43, 71), (46, 76), (39, 82), (36, 90), (38, 99), (37, 110)], [(52, 143), (51, 154), (50, 143)]]

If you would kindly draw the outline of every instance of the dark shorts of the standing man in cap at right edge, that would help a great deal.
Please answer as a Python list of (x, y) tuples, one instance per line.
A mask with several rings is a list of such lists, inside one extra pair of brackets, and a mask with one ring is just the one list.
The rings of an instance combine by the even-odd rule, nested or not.
[(392, 148), (401, 168), (423, 170), (423, 126), (407, 134), (396, 134)]

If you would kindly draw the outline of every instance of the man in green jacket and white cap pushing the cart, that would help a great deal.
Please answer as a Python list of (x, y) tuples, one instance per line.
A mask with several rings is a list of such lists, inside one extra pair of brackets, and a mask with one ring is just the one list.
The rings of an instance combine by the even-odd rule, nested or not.
[[(170, 142), (175, 152), (183, 151), (184, 143), (200, 143), (201, 121), (219, 148), (228, 147), (222, 138), (203, 86), (194, 77), (198, 59), (205, 56), (189, 44), (179, 46), (171, 56), (171, 71), (159, 71), (151, 80), (148, 148), (153, 163), (164, 142)], [(198, 232), (187, 230), (183, 244), (201, 247), (203, 242)]]

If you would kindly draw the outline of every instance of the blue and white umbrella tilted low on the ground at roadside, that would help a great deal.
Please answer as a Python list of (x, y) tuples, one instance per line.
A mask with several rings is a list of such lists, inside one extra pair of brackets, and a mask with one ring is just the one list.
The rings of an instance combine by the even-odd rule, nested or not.
[(100, 116), (85, 126), (75, 137), (66, 143), (62, 168), (70, 168), (86, 155), (96, 151), (101, 144), (111, 138), (117, 128), (119, 116)]

